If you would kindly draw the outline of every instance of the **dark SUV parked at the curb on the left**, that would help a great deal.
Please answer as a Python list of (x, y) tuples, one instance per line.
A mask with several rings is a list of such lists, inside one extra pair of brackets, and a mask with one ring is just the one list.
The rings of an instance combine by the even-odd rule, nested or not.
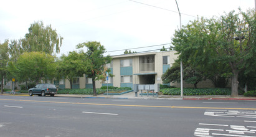
[(37, 84), (36, 87), (29, 89), (29, 95), (39, 95), (39, 96), (45, 96), (50, 95), (54, 97), (54, 95), (57, 93), (57, 88), (55, 85), (51, 83), (42, 83)]

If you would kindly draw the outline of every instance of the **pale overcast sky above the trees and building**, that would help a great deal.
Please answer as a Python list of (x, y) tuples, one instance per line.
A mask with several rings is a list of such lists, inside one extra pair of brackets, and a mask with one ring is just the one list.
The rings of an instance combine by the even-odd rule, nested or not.
[[(68, 54), (75, 50), (75, 45), (94, 40), (104, 45), (107, 51), (171, 43), (174, 31), (179, 28), (175, 0), (134, 1), (3, 0), (0, 6), (0, 42), (24, 38), (32, 23), (43, 21), (44, 26), (51, 24), (52, 29), (64, 37), (60, 54)], [(211, 18), (223, 15), (224, 11), (238, 11), (239, 7), (246, 11), (255, 6), (255, 0), (177, 1), (182, 25), (194, 21), (196, 16)], [(161, 47), (163, 45), (131, 51)], [(107, 54), (119, 55), (123, 52)]]

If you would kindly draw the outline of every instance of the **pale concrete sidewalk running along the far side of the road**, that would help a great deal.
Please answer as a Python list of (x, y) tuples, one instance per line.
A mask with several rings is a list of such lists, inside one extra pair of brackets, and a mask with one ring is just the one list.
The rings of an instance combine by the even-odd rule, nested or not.
[[(0, 94), (1, 95), (10, 95), (9, 93)], [(28, 93), (16, 93), (17, 96), (29, 96)], [(12, 95), (14, 96), (14, 95)], [(120, 99), (146, 99), (146, 100), (252, 100), (256, 101), (256, 97), (230, 97), (230, 96), (170, 96), (170, 95), (159, 95), (158, 97), (149, 95), (143, 95), (141, 97), (138, 93), (138, 97), (135, 97), (135, 92), (126, 93), (123, 95), (75, 95), (75, 94), (55, 94), (55, 97), (77, 97), (77, 98), (120, 98)]]

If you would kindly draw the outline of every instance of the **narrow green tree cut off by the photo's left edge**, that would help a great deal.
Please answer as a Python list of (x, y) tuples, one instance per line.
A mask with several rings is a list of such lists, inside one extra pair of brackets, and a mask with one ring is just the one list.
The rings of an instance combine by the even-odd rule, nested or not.
[(8, 54), (8, 40), (5, 40), (3, 44), (0, 44), (0, 80), (1, 80), (1, 94), (4, 93), (4, 78), (7, 76), (7, 62), (9, 60)]

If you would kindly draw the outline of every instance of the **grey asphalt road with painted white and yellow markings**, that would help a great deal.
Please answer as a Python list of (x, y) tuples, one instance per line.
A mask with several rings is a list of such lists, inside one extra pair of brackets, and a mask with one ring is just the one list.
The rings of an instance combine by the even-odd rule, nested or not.
[(256, 102), (0, 96), (0, 136), (256, 136)]

